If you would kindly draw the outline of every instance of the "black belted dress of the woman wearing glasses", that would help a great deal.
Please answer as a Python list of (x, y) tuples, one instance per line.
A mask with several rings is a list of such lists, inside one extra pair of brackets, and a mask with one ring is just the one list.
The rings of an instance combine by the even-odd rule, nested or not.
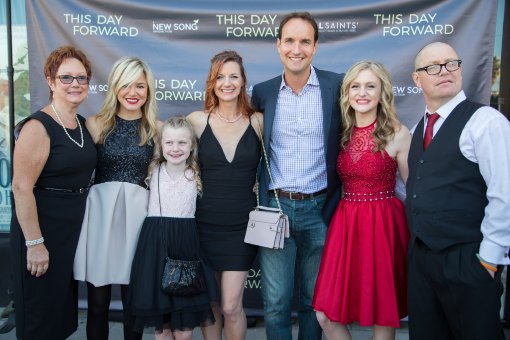
[[(38, 111), (28, 119), (39, 120), (50, 138), (49, 156), (36, 186), (80, 189), (89, 185), (97, 163), (94, 142), (83, 129), (83, 148), (74, 144), (62, 126)], [(22, 121), (16, 127), (21, 129)], [(80, 142), (80, 129), (67, 129)], [(37, 217), (49, 252), (48, 271), (36, 278), (27, 270), (27, 247), (13, 209), (11, 218), (11, 264), (18, 339), (65, 339), (78, 328), (78, 284), (72, 277), (74, 253), (80, 236), (87, 192), (61, 193), (34, 188)]]

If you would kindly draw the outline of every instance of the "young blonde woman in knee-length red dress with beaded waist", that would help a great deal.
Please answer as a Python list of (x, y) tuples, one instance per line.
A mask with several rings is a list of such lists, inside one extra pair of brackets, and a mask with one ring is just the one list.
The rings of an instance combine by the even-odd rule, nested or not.
[(374, 326), (374, 339), (394, 339), (407, 315), (410, 239), (395, 180), (397, 168), (407, 179), (411, 135), (398, 121), (389, 72), (378, 62), (350, 68), (340, 106), (337, 171), (345, 194), (329, 225), (312, 305), (328, 340), (351, 339), (346, 324), (354, 321)]

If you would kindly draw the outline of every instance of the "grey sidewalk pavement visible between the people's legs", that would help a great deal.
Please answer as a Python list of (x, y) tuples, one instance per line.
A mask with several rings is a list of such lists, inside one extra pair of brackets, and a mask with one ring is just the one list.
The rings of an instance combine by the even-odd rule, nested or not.
[[(4, 308), (0, 308), (0, 312)], [(0, 327), (2, 327), (7, 319), (0, 319)], [(78, 330), (74, 332), (68, 339), (69, 340), (84, 340), (87, 338), (85, 333), (85, 327), (87, 324), (87, 311), (80, 309), (78, 311)], [(354, 340), (371, 340), (372, 339), (372, 327), (361, 327), (357, 324), (349, 326), (352, 338)], [(292, 326), (292, 336), (297, 339), (297, 333), (299, 326), (297, 321)], [(223, 339), (225, 337), (223, 336)], [(325, 336), (322, 337), (324, 340)], [(15, 340), (16, 339), (16, 328), (11, 330), (7, 334), (0, 334), (2, 340)], [(110, 322), (110, 340), (122, 340), (122, 323)], [(154, 335), (143, 334), (143, 340), (152, 340)], [(257, 318), (257, 326), (248, 328), (246, 332), (246, 340), (265, 340), (266, 331), (264, 329), (264, 318)], [(193, 340), (203, 340), (202, 332), (200, 328), (195, 328), (193, 331)], [(401, 322), (401, 327), (396, 331), (395, 340), (409, 340), (409, 332), (407, 331), (407, 323)]]

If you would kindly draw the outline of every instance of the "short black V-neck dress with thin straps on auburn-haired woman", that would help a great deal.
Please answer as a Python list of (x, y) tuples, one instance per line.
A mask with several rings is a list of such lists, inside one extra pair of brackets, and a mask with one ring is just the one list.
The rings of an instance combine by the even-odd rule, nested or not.
[(214, 270), (247, 271), (257, 255), (258, 247), (244, 243), (244, 234), (248, 214), (257, 205), (253, 185), (260, 156), (259, 137), (250, 120), (228, 162), (208, 117), (198, 147), (203, 193), (195, 219), (200, 248)]

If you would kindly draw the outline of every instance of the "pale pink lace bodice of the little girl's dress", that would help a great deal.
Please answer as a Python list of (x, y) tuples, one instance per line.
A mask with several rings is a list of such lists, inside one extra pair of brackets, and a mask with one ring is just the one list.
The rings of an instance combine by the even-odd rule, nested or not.
[(193, 171), (188, 169), (181, 177), (173, 180), (166, 171), (165, 163), (161, 165), (161, 174), (159, 174), (158, 179), (159, 170), (159, 166), (152, 169), (148, 216), (160, 216), (159, 195), (161, 195), (161, 215), (166, 217), (194, 217), (196, 181)]

